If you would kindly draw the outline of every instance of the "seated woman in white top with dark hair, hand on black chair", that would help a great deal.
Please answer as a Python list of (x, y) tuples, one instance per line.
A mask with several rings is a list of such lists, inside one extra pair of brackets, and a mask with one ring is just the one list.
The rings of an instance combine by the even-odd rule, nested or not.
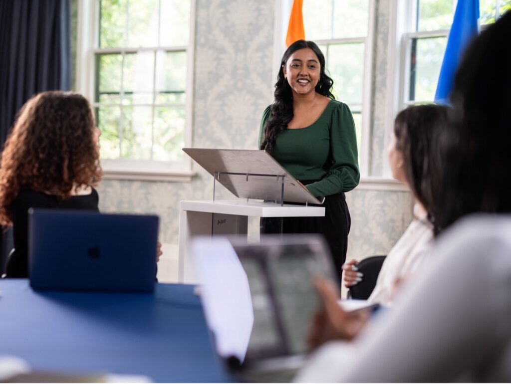
[[(398, 243), (388, 253), (369, 302), (391, 305), (401, 280), (421, 269), (433, 238), (428, 215), (431, 205), (432, 178), (440, 170), (437, 140), (446, 129), (449, 107), (417, 105), (401, 111), (394, 122), (394, 134), (388, 148), (392, 176), (407, 184), (413, 195), (413, 221)], [(357, 272), (357, 260), (343, 265), (344, 284), (358, 284), (363, 275)]]

